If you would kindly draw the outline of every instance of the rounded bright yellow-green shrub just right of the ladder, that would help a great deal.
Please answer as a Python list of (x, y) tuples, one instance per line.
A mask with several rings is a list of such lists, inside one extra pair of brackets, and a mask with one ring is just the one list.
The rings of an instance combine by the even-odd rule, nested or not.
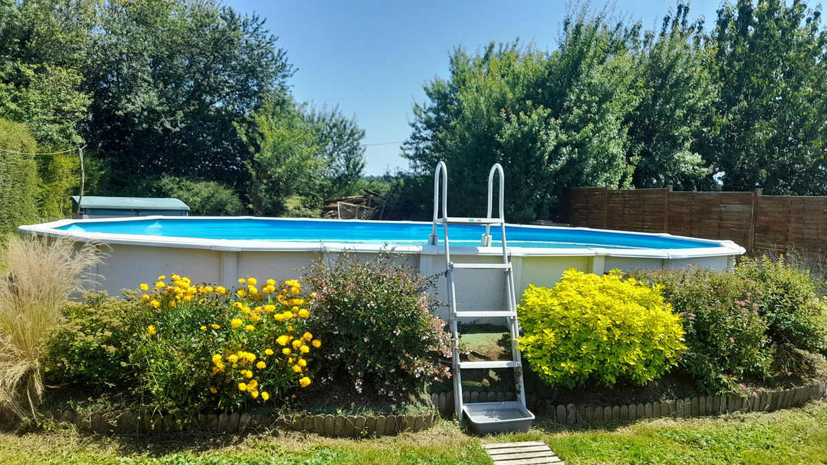
[(624, 280), (619, 271), (596, 276), (569, 268), (551, 289), (530, 285), (519, 319), (520, 351), (554, 386), (643, 385), (686, 349), (681, 318), (658, 287)]

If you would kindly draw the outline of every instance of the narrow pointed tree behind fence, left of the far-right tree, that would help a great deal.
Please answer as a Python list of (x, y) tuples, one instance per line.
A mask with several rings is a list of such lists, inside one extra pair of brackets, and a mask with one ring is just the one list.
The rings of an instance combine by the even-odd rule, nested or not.
[(711, 122), (715, 82), (703, 20), (678, 3), (659, 34), (647, 31), (636, 58), (641, 98), (629, 113), (629, 161), (638, 188), (710, 189), (712, 169), (696, 150)]

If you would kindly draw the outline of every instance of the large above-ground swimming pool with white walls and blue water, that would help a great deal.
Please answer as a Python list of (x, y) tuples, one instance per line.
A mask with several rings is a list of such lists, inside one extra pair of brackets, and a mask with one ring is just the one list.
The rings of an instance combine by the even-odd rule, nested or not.
[[(431, 228), (432, 223), (420, 222), (159, 216), (67, 219), (19, 231), (108, 244), (108, 259), (97, 270), (102, 276), (98, 290), (117, 294), (173, 271), (229, 287), (248, 275), (288, 279), (310, 261), (341, 252), (397, 252), (399, 260), (435, 275), (445, 271), (445, 258), (441, 244), (428, 244)], [(442, 226), (437, 232), (442, 236)], [(494, 247), (480, 247), (483, 232), (479, 224), (449, 226), (452, 259), (501, 260), (500, 228), (491, 228)], [(506, 234), (518, 295), (529, 284), (554, 285), (569, 266), (594, 273), (688, 264), (724, 269), (744, 252), (731, 241), (643, 232), (508, 225)], [(503, 305), (504, 280), (495, 271), (457, 271), (455, 276), (462, 309)], [(437, 284), (437, 291), (443, 289), (444, 284)]]

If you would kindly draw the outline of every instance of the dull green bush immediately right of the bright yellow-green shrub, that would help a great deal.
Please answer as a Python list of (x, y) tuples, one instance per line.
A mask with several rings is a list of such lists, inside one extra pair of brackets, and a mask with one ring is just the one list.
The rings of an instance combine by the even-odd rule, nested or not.
[(681, 367), (709, 393), (737, 391), (748, 378), (763, 379), (772, 356), (767, 322), (753, 300), (757, 287), (731, 271), (690, 267), (636, 271), (633, 277), (662, 286), (682, 319), (688, 350)]

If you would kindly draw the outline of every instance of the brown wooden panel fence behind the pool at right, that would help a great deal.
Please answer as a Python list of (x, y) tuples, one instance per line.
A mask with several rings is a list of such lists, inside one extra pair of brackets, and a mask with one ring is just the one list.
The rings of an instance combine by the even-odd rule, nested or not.
[(751, 254), (827, 261), (827, 197), (584, 187), (568, 191), (562, 210), (575, 226), (729, 239)]

